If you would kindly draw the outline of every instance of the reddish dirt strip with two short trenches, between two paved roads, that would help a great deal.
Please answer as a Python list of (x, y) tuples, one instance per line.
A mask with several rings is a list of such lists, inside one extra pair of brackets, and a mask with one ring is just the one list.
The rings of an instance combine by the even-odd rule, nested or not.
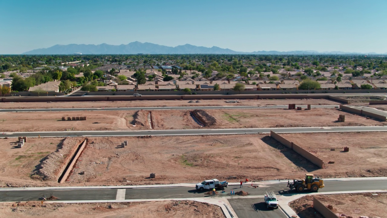
[[(288, 109), (214, 109), (203, 110), (215, 119), (212, 125), (200, 127), (188, 110), (141, 111), (63, 111), (3, 112), (0, 131), (104, 131), (151, 129), (147, 114), (152, 114), (155, 130), (196, 128), (275, 128), (310, 126), (384, 126), (387, 122), (329, 108)], [(339, 114), (345, 122), (337, 122)], [(62, 121), (62, 117), (86, 116), (83, 121)], [(204, 118), (204, 119), (208, 119)]]

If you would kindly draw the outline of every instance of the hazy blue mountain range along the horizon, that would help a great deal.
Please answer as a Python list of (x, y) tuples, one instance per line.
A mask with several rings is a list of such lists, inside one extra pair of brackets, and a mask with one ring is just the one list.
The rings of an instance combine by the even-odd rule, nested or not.
[[(237, 52), (228, 48), (211, 48), (195, 46), (190, 44), (169, 47), (153, 43), (131, 42), (127, 45), (100, 45), (70, 44), (54, 45), (50, 48), (39, 48), (29, 52), (26, 55), (51, 55), (51, 54), (265, 54), (265, 55), (310, 55), (310, 54), (377, 54), (377, 53), (358, 53), (358, 52), (317, 52), (317, 51), (257, 51), (257, 52)], [(387, 53), (384, 53), (387, 54)]]

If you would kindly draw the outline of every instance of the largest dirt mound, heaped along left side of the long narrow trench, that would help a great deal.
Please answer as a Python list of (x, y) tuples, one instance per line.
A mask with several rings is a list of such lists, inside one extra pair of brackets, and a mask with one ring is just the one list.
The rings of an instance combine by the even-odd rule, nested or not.
[(67, 137), (57, 145), (57, 151), (52, 152), (45, 158), (41, 159), (40, 163), (35, 166), (31, 173), (31, 178), (38, 180), (58, 180), (66, 164), (75, 151), (78, 145), (84, 138)]

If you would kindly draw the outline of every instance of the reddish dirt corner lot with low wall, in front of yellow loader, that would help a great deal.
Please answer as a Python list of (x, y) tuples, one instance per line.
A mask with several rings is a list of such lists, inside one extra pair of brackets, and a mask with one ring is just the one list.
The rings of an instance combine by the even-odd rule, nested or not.
[[(375, 194), (375, 193), (373, 193)], [(361, 194), (337, 194), (315, 196), (325, 206), (332, 206), (332, 211), (341, 218), (358, 218), (368, 216), (369, 218), (386, 217), (387, 193)], [(290, 202), (300, 218), (323, 218), (320, 213), (313, 209), (313, 196), (305, 196)], [(344, 216), (343, 216), (344, 215)]]

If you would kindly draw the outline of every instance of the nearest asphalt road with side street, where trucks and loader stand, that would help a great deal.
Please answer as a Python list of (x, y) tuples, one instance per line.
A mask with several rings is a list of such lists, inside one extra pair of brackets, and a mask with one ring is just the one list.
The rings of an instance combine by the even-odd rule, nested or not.
[[(387, 179), (368, 179), (368, 180), (350, 180), (350, 181), (326, 181), (325, 187), (319, 192), (334, 192), (334, 191), (351, 191), (351, 190), (383, 190), (387, 189)], [(294, 195), (297, 194), (294, 190), (289, 192), (286, 183), (276, 183), (268, 185), (260, 185), (258, 188), (247, 187), (244, 184), (243, 188), (239, 185), (229, 185), (225, 193), (219, 192), (220, 197), (227, 197), (238, 217), (286, 217), (277, 209), (269, 211), (266, 209), (263, 202), (263, 195), (267, 191), (273, 191), (276, 194)], [(194, 187), (165, 187), (165, 188), (139, 188), (139, 189), (115, 189), (111, 187), (81, 187), (74, 189), (72, 187), (60, 188), (1, 188), (0, 202), (16, 202), (16, 201), (37, 201), (39, 197), (56, 196), (60, 201), (82, 201), (82, 200), (116, 200), (118, 198), (118, 190), (124, 193), (122, 200), (129, 199), (171, 199), (171, 198), (195, 198), (195, 197), (212, 197), (204, 193), (206, 191), (197, 191)], [(238, 192), (244, 190), (250, 193), (248, 197), (231, 196), (230, 190)], [(279, 196), (281, 198), (281, 196)]]

